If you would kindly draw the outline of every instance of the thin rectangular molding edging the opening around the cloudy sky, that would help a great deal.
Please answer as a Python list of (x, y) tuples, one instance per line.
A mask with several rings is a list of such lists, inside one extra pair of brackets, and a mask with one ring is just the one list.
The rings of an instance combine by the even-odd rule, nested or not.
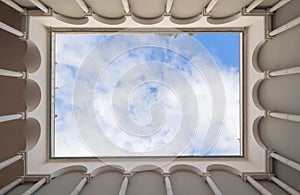
[[(172, 30), (176, 29), (176, 30)], [(78, 33), (94, 33), (94, 34), (101, 34), (101, 33), (117, 33), (117, 32), (137, 32), (137, 33), (151, 33), (151, 32), (174, 32), (178, 33), (179, 31), (182, 31), (183, 33), (240, 33), (240, 71), (239, 71), (239, 100), (240, 100), (240, 108), (239, 108), (239, 117), (240, 117), (240, 127), (239, 127), (239, 133), (240, 133), (240, 151), (241, 155), (216, 155), (216, 156), (86, 156), (86, 157), (55, 157), (55, 113), (53, 110), (55, 110), (55, 33), (70, 33), (70, 34), (78, 34)], [(66, 160), (66, 161), (76, 161), (76, 160), (101, 160), (103, 159), (168, 159), (168, 158), (178, 158), (183, 160), (231, 160), (231, 159), (237, 159), (237, 160), (243, 160), (247, 159), (247, 71), (246, 71), (246, 59), (247, 59), (247, 27), (233, 27), (233, 28), (48, 28), (48, 37), (49, 37), (49, 75), (48, 75), (48, 92), (49, 94), (47, 97), (48, 100), (48, 109), (47, 109), (47, 115), (48, 115), (48, 159), (50, 161), (57, 161), (57, 160)]]

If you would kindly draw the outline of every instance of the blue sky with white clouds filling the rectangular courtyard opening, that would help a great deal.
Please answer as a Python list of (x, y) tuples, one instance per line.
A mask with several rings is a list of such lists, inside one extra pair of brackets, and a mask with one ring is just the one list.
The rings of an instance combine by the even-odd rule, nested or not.
[(240, 155), (239, 33), (57, 33), (55, 157)]

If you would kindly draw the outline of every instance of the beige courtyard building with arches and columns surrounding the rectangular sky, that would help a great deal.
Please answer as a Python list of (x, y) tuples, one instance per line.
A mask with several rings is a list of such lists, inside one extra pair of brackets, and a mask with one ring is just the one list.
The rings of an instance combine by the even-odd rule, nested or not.
[[(2, 0), (0, 194), (299, 194), (300, 1)], [(50, 159), (49, 28), (243, 28), (242, 158)]]

